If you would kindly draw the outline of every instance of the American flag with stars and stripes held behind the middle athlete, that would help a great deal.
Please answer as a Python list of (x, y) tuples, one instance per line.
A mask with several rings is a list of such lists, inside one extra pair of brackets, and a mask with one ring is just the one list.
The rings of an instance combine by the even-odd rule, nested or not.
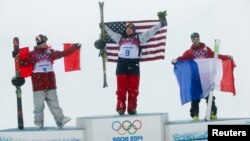
[[(142, 21), (121, 21), (121, 22), (106, 22), (109, 28), (113, 31), (122, 34), (124, 32), (127, 23), (133, 23), (136, 26), (136, 33), (140, 34), (147, 31), (154, 25), (158, 24), (159, 20), (142, 20)], [(164, 59), (165, 57), (165, 45), (166, 45), (166, 33), (167, 26), (162, 27), (156, 34), (150, 38), (146, 43), (141, 44), (142, 56), (141, 61), (153, 61), (158, 59)], [(118, 59), (118, 44), (115, 43), (106, 34), (106, 52), (108, 62), (117, 62)]]

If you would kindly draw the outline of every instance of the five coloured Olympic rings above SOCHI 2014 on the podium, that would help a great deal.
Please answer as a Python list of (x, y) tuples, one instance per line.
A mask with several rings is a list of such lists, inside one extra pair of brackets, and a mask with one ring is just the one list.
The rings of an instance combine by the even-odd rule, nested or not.
[(120, 121), (114, 121), (112, 123), (112, 129), (117, 131), (119, 135), (125, 135), (126, 133), (135, 134), (141, 127), (142, 123), (140, 120), (134, 120), (133, 122), (125, 120), (122, 123)]

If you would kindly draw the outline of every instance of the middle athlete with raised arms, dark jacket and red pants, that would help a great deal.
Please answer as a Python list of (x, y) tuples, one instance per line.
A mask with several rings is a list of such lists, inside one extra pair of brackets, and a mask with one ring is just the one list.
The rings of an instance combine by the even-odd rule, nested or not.
[[(140, 43), (145, 43), (164, 25), (164, 21), (153, 26), (148, 31), (136, 34), (135, 25), (128, 23), (125, 27), (125, 34), (121, 35), (114, 32), (108, 26), (105, 30), (108, 35), (119, 44), (118, 62), (116, 67), (117, 76), (117, 106), (116, 111), (119, 115), (124, 115), (126, 109), (128, 114), (137, 113), (137, 96), (139, 94), (140, 82)], [(126, 99), (128, 93), (128, 105)]]

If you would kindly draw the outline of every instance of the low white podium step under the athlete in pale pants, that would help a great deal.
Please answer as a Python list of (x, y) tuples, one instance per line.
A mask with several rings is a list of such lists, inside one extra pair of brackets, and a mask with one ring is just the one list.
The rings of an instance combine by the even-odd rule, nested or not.
[(75, 127), (27, 127), (0, 131), (0, 141), (87, 141), (85, 130)]

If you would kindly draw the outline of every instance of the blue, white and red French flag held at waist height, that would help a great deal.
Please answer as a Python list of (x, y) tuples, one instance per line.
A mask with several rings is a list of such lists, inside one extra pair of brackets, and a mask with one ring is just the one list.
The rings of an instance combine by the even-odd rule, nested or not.
[(234, 68), (234, 61), (229, 58), (178, 60), (174, 73), (180, 87), (182, 105), (207, 97), (212, 89), (235, 95)]

